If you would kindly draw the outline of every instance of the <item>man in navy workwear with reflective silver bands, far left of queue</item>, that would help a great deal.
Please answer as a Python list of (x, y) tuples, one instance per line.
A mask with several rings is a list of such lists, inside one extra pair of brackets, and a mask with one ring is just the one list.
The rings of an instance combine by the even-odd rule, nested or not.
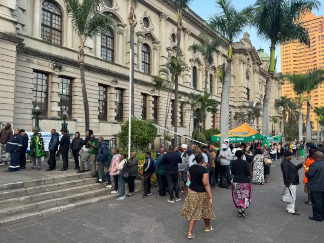
[(8, 140), (6, 146), (6, 153), (11, 154), (9, 169), (6, 172), (14, 172), (20, 170), (19, 156), (23, 145), (22, 143), (23, 140), (22, 140), (22, 136), (19, 134), (19, 129), (15, 128), (14, 136), (12, 136)]

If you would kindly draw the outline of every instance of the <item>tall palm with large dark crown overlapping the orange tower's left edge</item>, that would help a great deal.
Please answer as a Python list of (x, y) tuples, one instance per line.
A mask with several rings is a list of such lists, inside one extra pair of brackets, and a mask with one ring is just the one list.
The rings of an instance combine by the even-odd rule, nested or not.
[(300, 17), (313, 9), (319, 9), (316, 0), (257, 0), (254, 25), (260, 37), (270, 41), (270, 64), (263, 98), (262, 132), (269, 133), (269, 106), (271, 80), (275, 72), (276, 45), (298, 40), (310, 45), (308, 30)]

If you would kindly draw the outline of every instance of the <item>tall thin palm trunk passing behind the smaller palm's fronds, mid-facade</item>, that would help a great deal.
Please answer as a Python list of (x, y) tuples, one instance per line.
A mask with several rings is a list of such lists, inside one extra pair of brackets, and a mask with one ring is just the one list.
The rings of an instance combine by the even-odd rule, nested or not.
[[(180, 47), (181, 47), (181, 31), (182, 31), (182, 11), (179, 13), (178, 22), (178, 33), (177, 33), (177, 59), (180, 57)], [(178, 146), (177, 132), (178, 132), (178, 84), (179, 76), (175, 77), (175, 90), (174, 90), (174, 146)]]

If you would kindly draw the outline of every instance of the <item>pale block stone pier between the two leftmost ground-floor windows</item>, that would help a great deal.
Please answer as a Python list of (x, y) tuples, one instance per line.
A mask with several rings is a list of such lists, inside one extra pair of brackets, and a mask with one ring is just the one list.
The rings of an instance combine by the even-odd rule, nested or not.
[(60, 102), (60, 74), (53, 72), (50, 74), (50, 95), (49, 95), (49, 117), (58, 117), (58, 111), (60, 111), (59, 102)]

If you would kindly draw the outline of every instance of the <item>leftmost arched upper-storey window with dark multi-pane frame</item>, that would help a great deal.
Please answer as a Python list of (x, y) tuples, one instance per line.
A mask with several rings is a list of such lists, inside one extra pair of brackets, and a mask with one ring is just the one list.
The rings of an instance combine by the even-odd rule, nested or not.
[(62, 12), (50, 1), (42, 5), (41, 36), (47, 42), (62, 45)]

